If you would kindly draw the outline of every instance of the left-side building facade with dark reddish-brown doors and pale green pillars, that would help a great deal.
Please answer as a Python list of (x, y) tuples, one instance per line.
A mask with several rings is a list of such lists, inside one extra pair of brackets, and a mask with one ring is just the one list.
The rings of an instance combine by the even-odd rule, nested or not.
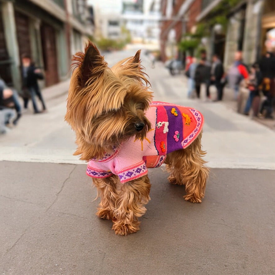
[(92, 34), (85, 5), (85, 0), (0, 0), (0, 77), (20, 89), (20, 57), (27, 54), (43, 69), (43, 86), (68, 78), (71, 55)]

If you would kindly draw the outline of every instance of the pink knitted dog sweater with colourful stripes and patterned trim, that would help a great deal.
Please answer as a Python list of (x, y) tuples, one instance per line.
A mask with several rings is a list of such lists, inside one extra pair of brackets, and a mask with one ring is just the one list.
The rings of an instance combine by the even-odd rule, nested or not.
[(159, 167), (166, 154), (189, 146), (201, 132), (204, 118), (190, 107), (152, 102), (146, 113), (152, 129), (143, 141), (130, 138), (100, 160), (88, 162), (87, 175), (107, 178), (118, 175), (121, 183), (147, 174), (147, 168)]

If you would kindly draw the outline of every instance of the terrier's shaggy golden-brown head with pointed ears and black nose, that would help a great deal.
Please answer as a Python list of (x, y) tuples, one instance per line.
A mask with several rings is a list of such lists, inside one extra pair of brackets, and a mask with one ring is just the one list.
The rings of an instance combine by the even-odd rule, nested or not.
[(140, 50), (109, 68), (91, 42), (73, 60), (65, 120), (76, 132), (82, 160), (101, 158), (130, 137), (143, 139), (151, 128), (145, 116), (152, 100)]

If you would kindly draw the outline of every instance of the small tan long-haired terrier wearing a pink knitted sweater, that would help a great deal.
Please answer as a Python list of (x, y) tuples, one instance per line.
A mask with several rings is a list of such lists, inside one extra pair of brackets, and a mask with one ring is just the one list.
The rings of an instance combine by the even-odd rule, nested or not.
[(65, 120), (76, 133), (74, 155), (88, 161), (87, 174), (101, 197), (97, 216), (112, 219), (116, 234), (137, 232), (150, 200), (147, 168), (162, 163), (170, 183), (185, 185), (185, 200), (201, 202), (209, 174), (201, 113), (152, 102), (140, 50), (109, 68), (89, 42), (73, 60)]

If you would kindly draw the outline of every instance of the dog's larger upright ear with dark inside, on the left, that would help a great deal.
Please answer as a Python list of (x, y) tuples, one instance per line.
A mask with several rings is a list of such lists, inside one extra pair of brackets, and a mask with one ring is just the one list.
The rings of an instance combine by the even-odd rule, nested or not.
[(92, 42), (86, 45), (84, 53), (77, 52), (72, 60), (76, 61), (72, 65), (79, 68), (77, 75), (80, 86), (84, 86), (92, 76), (99, 76), (107, 65)]

